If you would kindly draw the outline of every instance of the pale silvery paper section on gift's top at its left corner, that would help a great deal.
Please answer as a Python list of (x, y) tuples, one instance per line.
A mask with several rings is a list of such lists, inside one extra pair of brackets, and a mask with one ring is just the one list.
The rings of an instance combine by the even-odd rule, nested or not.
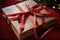
[(20, 13), (20, 11), (17, 9), (15, 5), (2, 8), (2, 10), (6, 13), (6, 15)]

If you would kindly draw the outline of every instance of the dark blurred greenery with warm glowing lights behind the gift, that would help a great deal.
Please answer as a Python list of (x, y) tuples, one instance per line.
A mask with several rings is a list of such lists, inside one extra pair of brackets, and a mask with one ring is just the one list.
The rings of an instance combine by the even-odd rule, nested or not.
[(34, 0), (42, 6), (50, 7), (56, 12), (60, 13), (60, 0)]

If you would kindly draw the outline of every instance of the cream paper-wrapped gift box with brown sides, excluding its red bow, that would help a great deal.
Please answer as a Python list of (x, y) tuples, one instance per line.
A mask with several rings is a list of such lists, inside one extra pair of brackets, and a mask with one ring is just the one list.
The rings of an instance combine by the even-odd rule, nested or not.
[[(25, 5), (25, 2), (26, 1), (2, 8), (3, 13), (4, 13), (3, 16), (6, 18), (8, 24), (11, 26), (12, 30), (15, 32), (15, 34), (19, 40), (23, 40), (23, 39), (33, 35), (34, 24), (31, 22), (31, 20), (29, 20), (29, 17), (34, 19), (33, 15), (29, 15), (29, 17), (25, 18), (25, 24), (24, 24), (23, 31), (20, 30), (20, 27), (19, 27), (20, 23), (18, 22), (18, 20), (15, 20), (15, 21), (8, 20), (9, 18), (14, 18), (17, 16), (13, 16), (13, 17), (7, 16), (6, 17), (6, 15), (16, 14), (16, 13), (18, 14), (18, 13), (27, 12), (27, 11), (29, 12), (29, 10), (27, 9), (27, 7)], [(33, 2), (33, 1), (30, 1), (30, 2)], [(35, 2), (33, 2), (33, 3), (34, 3), (34, 5), (36, 5)], [(31, 5), (31, 7), (34, 5)], [(40, 12), (44, 13), (44, 14), (49, 14), (49, 12), (47, 12), (45, 9), (41, 10)], [(44, 19), (45, 19), (45, 22), (44, 22), (44, 24), (42, 24), (42, 17), (37, 15), (36, 20), (37, 20), (37, 24), (39, 25), (39, 27), (37, 27), (37, 29), (39, 28), (40, 30), (47, 30), (48, 28), (52, 27), (52, 25), (54, 25), (56, 22), (55, 17), (44, 17)]]

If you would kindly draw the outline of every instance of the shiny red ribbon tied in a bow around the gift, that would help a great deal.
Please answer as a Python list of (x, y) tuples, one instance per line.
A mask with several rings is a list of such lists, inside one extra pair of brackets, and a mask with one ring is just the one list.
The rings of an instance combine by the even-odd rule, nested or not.
[[(36, 33), (36, 28), (37, 28), (36, 15), (40, 14), (40, 16), (42, 16), (42, 24), (44, 24), (44, 22), (45, 22), (45, 20), (44, 20), (45, 16), (53, 16), (53, 17), (59, 17), (59, 16), (58, 16), (57, 12), (55, 12), (54, 10), (52, 10), (50, 8), (47, 8), (47, 7), (42, 6), (41, 8), (35, 9), (35, 10), (33, 8), (30, 8), (29, 4), (26, 4), (26, 7), (29, 9), (29, 12), (34, 14), (34, 22), (33, 22), (34, 23), (34, 35), (35, 35), (35, 38), (38, 40), (38, 36), (37, 36), (37, 33)], [(43, 9), (48, 11), (50, 14), (42, 14), (40, 11), (43, 10)], [(28, 13), (28, 12), (18, 13), (18, 14), (9, 14), (8, 16), (17, 16), (15, 18), (10, 18), (9, 20), (14, 21), (14, 20), (18, 20), (19, 18), (21, 18), (19, 20), (21, 22), (20, 29), (22, 30), (24, 28), (24, 17), (26, 16), (26, 13)]]

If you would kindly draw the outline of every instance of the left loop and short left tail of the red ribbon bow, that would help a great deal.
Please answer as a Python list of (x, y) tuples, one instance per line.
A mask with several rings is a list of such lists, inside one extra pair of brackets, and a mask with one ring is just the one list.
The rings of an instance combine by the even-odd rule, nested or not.
[[(25, 14), (26, 13), (26, 14)], [(8, 14), (7, 16), (10, 16), (10, 21), (18, 20), (20, 22), (20, 29), (22, 30), (24, 28), (24, 17), (25, 15), (28, 15), (29, 12), (23, 12), (23, 13), (16, 13), (16, 14)]]

